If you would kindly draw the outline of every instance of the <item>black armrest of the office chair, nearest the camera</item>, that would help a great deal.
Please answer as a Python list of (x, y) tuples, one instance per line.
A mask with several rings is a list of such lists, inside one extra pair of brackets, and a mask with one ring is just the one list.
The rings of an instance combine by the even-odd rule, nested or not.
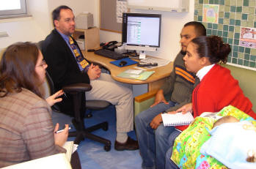
[(92, 86), (88, 83), (73, 83), (62, 88), (64, 91), (70, 92), (85, 92), (90, 91)]

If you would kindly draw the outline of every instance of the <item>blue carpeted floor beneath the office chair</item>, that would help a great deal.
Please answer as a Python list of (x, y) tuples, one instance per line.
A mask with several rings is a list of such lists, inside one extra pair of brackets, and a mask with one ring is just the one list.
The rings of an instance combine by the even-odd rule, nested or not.
[[(70, 116), (62, 113), (53, 113), (54, 124), (58, 122), (60, 126), (64, 124), (72, 124)], [(109, 106), (105, 110), (98, 110), (92, 112), (92, 118), (85, 119), (87, 127), (93, 124), (98, 124), (102, 121), (109, 122), (109, 129), (104, 131), (98, 129), (93, 132), (95, 135), (100, 135), (103, 138), (111, 140), (111, 150), (105, 151), (103, 144), (85, 139), (78, 146), (78, 154), (81, 160), (81, 167), (83, 169), (139, 169), (141, 168), (142, 159), (139, 155), (139, 150), (136, 151), (116, 151), (114, 149), (114, 140), (116, 138), (116, 117), (114, 106)], [(134, 131), (129, 132), (128, 135), (136, 140)], [(73, 140), (73, 138), (69, 138)]]

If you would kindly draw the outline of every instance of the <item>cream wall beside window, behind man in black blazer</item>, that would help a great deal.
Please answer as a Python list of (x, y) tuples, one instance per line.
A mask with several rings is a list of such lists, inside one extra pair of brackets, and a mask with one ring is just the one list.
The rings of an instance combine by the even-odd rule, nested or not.
[[(53, 29), (51, 12), (65, 4), (73, 9), (75, 15), (80, 12), (92, 12), (95, 26), (98, 26), (98, 0), (26, 0), (31, 18), (0, 20), (0, 31), (7, 31), (9, 37), (0, 38), (0, 50), (14, 42), (38, 42)], [(96, 12), (97, 11), (97, 12)]]

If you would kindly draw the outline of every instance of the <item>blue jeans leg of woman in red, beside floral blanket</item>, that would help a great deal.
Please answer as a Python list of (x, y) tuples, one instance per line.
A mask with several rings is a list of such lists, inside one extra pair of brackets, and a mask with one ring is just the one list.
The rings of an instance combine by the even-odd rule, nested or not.
[(169, 150), (165, 155), (165, 169), (178, 169), (178, 166), (175, 164), (175, 162), (172, 162), (172, 159), (170, 159), (172, 156), (173, 144), (175, 143), (175, 138), (177, 138), (178, 135), (180, 135), (180, 131), (178, 130), (175, 130), (172, 132), (172, 135), (169, 135), (168, 141), (172, 145), (169, 147)]

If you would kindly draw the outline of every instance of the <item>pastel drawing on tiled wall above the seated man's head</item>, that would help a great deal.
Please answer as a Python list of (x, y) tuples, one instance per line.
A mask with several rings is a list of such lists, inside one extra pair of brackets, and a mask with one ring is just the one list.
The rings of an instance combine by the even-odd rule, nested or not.
[(218, 23), (219, 5), (204, 4), (202, 7), (202, 21), (207, 23)]

